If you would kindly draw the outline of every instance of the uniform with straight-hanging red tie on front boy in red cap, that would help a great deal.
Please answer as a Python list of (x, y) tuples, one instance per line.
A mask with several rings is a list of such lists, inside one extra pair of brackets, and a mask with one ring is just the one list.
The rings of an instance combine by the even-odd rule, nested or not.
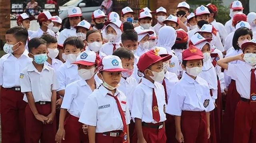
[[(142, 82), (134, 89), (132, 103), (132, 119), (142, 121), (142, 132), (148, 143), (165, 143), (166, 134), (163, 122), (165, 115), (165, 94), (161, 83), (152, 83), (142, 77)], [(132, 142), (137, 142), (137, 133), (134, 131)]]

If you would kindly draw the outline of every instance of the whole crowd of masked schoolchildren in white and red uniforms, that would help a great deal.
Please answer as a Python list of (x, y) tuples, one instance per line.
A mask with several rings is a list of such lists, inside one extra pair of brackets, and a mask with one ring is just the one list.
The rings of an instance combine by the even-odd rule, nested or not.
[(72, 7), (37, 31), (21, 14), (0, 58), (2, 143), (256, 143), (256, 13), (242, 10), (225, 26), (186, 2), (90, 24)]

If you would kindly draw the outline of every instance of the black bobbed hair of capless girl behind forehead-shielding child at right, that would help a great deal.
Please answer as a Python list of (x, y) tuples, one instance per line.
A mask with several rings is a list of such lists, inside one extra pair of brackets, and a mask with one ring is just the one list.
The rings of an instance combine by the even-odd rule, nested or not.
[(247, 34), (250, 34), (250, 36), (252, 38), (252, 30), (250, 30), (246, 27), (241, 27), (241, 28), (238, 28), (236, 30), (236, 32), (234, 33), (233, 40), (232, 40), (232, 46), (234, 47), (235, 50), (240, 49), (240, 47), (238, 46), (238, 38), (240, 36), (244, 36), (244, 35), (247, 35)]

